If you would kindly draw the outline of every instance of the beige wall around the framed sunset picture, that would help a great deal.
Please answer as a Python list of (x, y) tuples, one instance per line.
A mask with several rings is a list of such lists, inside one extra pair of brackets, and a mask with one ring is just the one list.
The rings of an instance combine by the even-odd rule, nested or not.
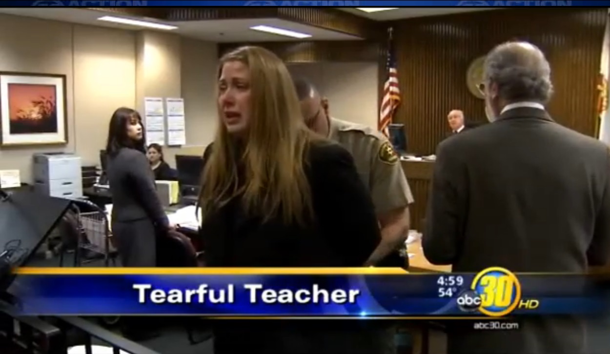
[[(209, 143), (216, 121), (215, 44), (177, 37), (168, 42), (167, 34), (143, 33), (0, 15), (0, 71), (66, 75), (69, 141), (60, 147), (0, 148), (0, 169), (20, 169), (22, 182), (31, 183), (34, 152), (76, 153), (85, 165), (96, 165), (112, 112), (140, 106), (137, 44), (143, 38), (156, 44), (157, 66), (148, 68), (148, 82), (185, 99), (187, 146), (201, 150)], [(173, 163), (181, 149), (167, 150)]]

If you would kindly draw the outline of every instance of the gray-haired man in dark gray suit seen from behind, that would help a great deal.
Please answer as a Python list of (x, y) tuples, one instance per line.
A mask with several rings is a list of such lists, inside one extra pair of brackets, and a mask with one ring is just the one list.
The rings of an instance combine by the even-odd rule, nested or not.
[[(504, 43), (484, 65), (492, 124), (439, 144), (423, 251), (453, 272), (586, 272), (610, 256), (610, 151), (545, 110), (550, 66), (536, 46)], [(519, 330), (448, 327), (449, 353), (586, 353), (580, 319)]]

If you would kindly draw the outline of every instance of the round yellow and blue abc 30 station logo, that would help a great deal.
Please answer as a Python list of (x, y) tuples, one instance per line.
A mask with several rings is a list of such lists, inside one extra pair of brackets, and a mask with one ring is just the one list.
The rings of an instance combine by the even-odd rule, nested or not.
[(462, 291), (457, 302), (460, 310), (479, 311), (487, 316), (510, 314), (521, 301), (521, 284), (508, 269), (490, 267), (476, 275), (470, 289)]

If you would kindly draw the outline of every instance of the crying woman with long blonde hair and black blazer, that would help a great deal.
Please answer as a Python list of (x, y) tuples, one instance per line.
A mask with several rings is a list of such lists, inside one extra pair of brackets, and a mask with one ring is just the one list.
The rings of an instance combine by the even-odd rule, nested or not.
[[(259, 47), (224, 55), (217, 99), (199, 199), (207, 266), (362, 266), (381, 239), (373, 202), (350, 153), (305, 126), (282, 60)], [(220, 322), (214, 352), (382, 352), (367, 328), (333, 326)]]

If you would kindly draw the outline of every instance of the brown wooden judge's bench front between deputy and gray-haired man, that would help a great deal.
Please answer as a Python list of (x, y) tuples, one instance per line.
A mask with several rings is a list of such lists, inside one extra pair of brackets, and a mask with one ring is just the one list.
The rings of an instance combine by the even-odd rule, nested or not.
[(426, 218), (426, 205), (428, 204), (434, 161), (401, 161), (401, 164), (415, 199), (415, 203), (409, 208), (411, 228), (423, 230), (422, 220)]

